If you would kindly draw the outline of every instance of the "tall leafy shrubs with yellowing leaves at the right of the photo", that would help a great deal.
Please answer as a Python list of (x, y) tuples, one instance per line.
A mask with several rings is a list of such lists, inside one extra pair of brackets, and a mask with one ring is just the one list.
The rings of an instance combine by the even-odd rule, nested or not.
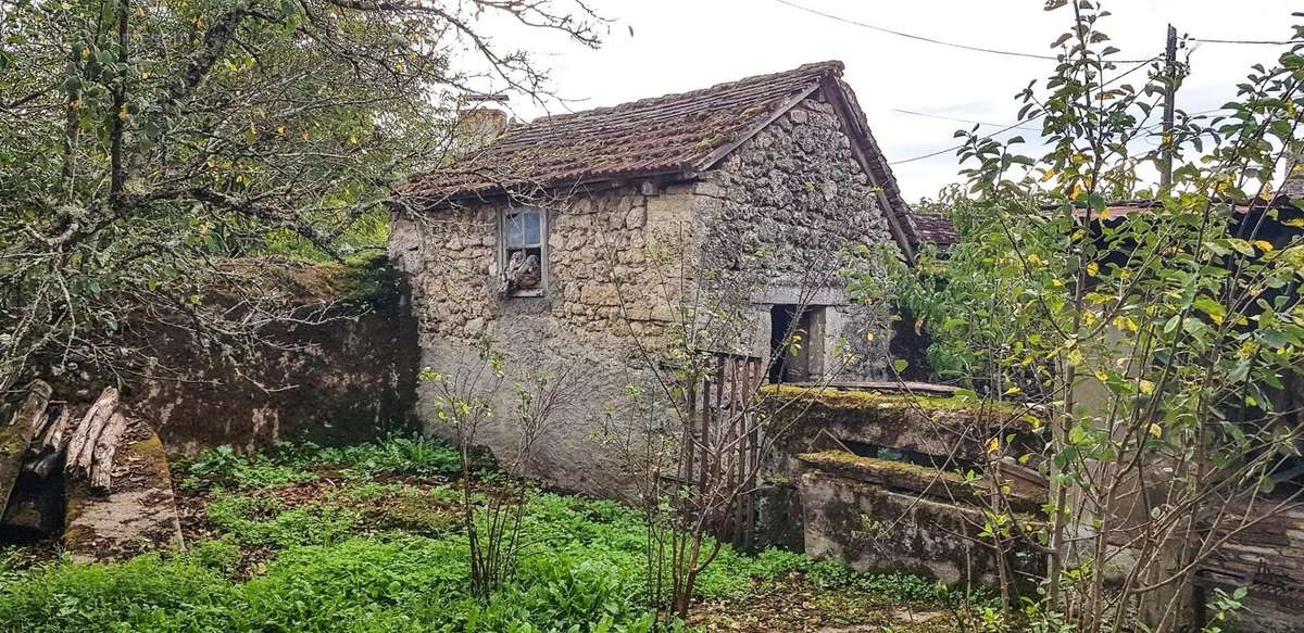
[[(1164, 122), (1183, 64), (1115, 61), (1098, 3), (1046, 4), (1072, 26), (1017, 95), (1045, 152), (958, 132), (969, 188), (943, 206), (961, 244), (853, 292), (919, 315), (969, 393), (1045, 419), (1035, 447), (1009, 426), (966, 438), (994, 483), (978, 541), (1047, 556), (1021, 602), (1000, 567), (1005, 608), (1035, 630), (1188, 630), (1201, 569), (1301, 495), (1304, 201), (1282, 175), (1304, 176), (1304, 27), (1223, 109)], [(1048, 482), (1045, 521), (1011, 511), (1017, 465)]]

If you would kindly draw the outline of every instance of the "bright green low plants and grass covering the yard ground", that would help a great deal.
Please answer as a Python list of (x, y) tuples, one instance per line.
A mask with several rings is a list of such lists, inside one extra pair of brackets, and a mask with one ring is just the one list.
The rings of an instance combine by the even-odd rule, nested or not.
[[(0, 557), (0, 630), (659, 630), (645, 599), (643, 524), (613, 501), (535, 494), (514, 582), (488, 603), (473, 600), (450, 479), (456, 460), (438, 442), (389, 438), (252, 457), (215, 449), (176, 469), (197, 524), (185, 554), (29, 569)], [(913, 576), (725, 546), (699, 581), (699, 599), (728, 621), (704, 616), (687, 628), (769, 630), (735, 616), (801, 591), (819, 595), (807, 608), (827, 621), (842, 612), (879, 623), (900, 606), (936, 610), (956, 599)]]

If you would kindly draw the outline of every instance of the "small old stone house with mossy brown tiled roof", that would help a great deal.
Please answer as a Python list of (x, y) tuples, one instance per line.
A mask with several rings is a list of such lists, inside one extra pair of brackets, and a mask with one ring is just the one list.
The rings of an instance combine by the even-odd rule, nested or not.
[[(808, 64), (512, 124), (413, 177), (415, 212), (396, 215), (390, 254), (411, 281), (422, 363), (475, 367), (490, 340), (509, 383), (578, 382), (531, 466), (593, 494), (613, 492), (614, 470), (595, 425), (653, 380), (649, 350), (673, 336), (763, 358), (772, 382), (882, 378), (891, 327), (846, 296), (842, 255), (863, 245), (909, 259), (921, 236), (841, 74)], [(438, 431), (433, 397), (419, 388)], [(498, 393), (497, 409), (512, 397)], [(499, 455), (515, 442), (507, 426), (481, 430)]]

